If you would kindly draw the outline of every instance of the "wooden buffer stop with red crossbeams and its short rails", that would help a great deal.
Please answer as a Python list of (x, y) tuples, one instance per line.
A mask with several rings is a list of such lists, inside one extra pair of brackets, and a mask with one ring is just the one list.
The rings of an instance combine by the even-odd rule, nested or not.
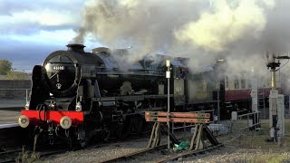
[[(166, 122), (168, 121), (196, 123), (196, 129), (192, 135), (190, 146), (189, 149), (187, 149), (187, 151), (184, 151), (181, 154), (178, 153), (177, 155), (173, 154), (174, 156), (172, 156), (172, 154), (169, 153), (171, 156), (168, 155), (165, 159), (161, 159), (158, 162), (168, 162), (170, 160), (174, 160), (176, 158), (180, 158), (183, 156), (188, 156), (190, 154), (205, 152), (208, 150), (219, 148), (222, 146), (222, 144), (218, 143), (218, 139), (216, 139), (212, 135), (211, 131), (208, 129), (208, 126), (206, 125), (206, 123), (209, 122), (209, 118), (210, 113), (206, 112), (194, 113), (194, 112), (146, 111), (145, 120), (155, 122), (151, 131), (150, 141), (147, 148), (137, 152), (133, 152), (131, 154), (121, 156), (119, 158), (113, 158), (103, 162), (116, 162), (116, 161), (128, 162), (131, 161), (128, 159), (132, 157), (144, 156), (145, 153), (152, 152), (157, 149), (165, 149), (166, 145), (160, 146), (161, 141), (160, 131), (163, 131), (164, 133), (169, 133), (167, 130), (168, 128), (166, 128)], [(172, 133), (170, 133), (170, 139), (172, 143), (179, 144), (179, 140), (176, 139)], [(210, 146), (208, 146), (208, 144), (205, 144), (205, 139), (208, 139), (208, 143), (211, 143)], [(168, 149), (170, 149), (169, 144)], [(138, 160), (136, 158), (133, 159)]]

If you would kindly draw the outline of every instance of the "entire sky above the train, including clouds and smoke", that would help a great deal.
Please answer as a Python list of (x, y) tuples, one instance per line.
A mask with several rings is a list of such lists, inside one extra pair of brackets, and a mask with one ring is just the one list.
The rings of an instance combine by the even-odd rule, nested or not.
[(0, 59), (31, 72), (74, 42), (86, 52), (182, 55), (195, 71), (218, 55), (230, 72), (266, 70), (266, 52), (290, 52), (289, 8), (288, 0), (0, 0)]

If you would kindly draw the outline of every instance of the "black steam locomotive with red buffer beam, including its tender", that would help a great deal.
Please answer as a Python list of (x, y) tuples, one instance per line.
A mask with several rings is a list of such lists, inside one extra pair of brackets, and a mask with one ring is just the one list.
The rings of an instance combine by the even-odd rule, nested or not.
[(85, 53), (82, 44), (67, 47), (34, 66), (31, 100), (19, 118), (21, 127), (42, 132), (51, 143), (63, 138), (85, 145), (95, 136), (139, 133), (145, 110), (167, 110), (166, 60), (171, 63), (171, 111), (215, 108), (216, 73), (192, 74), (186, 58), (146, 55), (127, 62), (122, 60), (126, 50)]

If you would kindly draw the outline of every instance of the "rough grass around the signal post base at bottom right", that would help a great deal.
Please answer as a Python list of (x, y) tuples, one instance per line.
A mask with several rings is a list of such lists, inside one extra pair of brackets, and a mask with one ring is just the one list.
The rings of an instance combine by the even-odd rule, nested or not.
[(280, 145), (277, 142), (266, 141), (270, 138), (268, 120), (262, 122), (259, 131), (245, 129), (238, 132), (238, 129), (244, 128), (245, 124), (247, 125), (245, 120), (234, 124), (233, 134), (237, 132), (240, 137), (229, 143), (237, 149), (244, 150), (245, 157), (238, 157), (237, 162), (290, 162), (290, 120), (285, 120), (285, 137)]

